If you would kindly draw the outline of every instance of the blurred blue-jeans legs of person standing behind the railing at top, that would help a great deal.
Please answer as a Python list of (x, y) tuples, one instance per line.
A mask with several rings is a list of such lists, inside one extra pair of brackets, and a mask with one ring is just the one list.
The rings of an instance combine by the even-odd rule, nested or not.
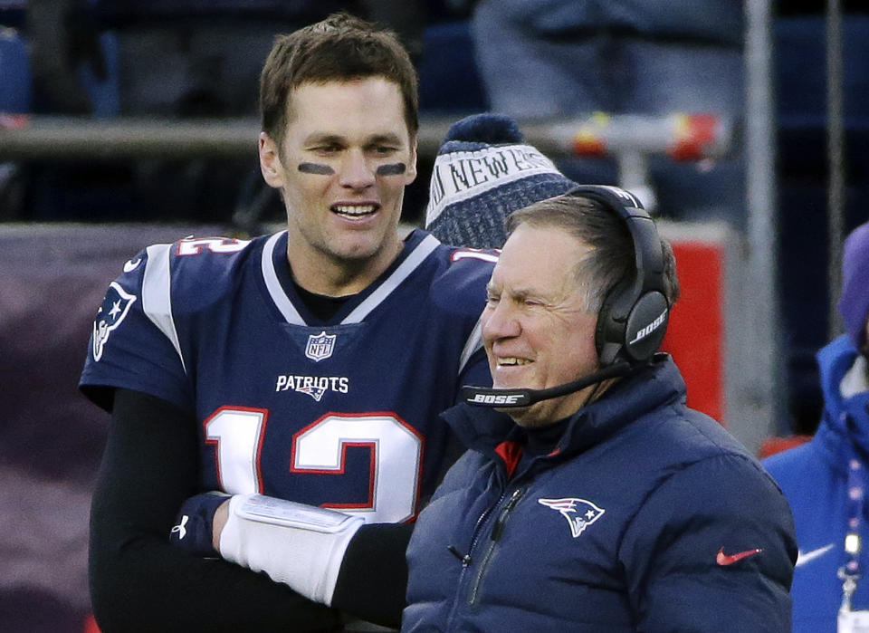
[[(481, 0), (473, 37), (492, 111), (520, 123), (597, 111), (743, 114), (740, 0)], [(717, 162), (654, 156), (648, 165), (662, 213), (744, 224), (738, 149)], [(578, 182), (619, 184), (612, 158), (559, 168)]]

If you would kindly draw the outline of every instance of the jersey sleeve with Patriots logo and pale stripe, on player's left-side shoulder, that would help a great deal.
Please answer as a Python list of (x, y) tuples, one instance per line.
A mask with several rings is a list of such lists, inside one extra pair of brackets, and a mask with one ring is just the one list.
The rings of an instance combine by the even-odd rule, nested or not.
[(97, 311), (79, 386), (101, 408), (110, 410), (114, 388), (193, 408), (172, 317), (171, 247), (148, 246), (124, 264)]

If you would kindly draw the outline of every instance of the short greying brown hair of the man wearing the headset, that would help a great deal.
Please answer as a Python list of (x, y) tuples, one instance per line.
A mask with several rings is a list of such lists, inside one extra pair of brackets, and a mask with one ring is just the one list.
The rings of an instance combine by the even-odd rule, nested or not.
[[(597, 200), (569, 194), (550, 197), (514, 211), (507, 218), (507, 234), (519, 225), (563, 229), (590, 248), (578, 262), (577, 281), (585, 293), (585, 309), (597, 314), (616, 284), (635, 274), (634, 240), (625, 221)], [(673, 247), (664, 239), (664, 296), (670, 306), (679, 298)]]

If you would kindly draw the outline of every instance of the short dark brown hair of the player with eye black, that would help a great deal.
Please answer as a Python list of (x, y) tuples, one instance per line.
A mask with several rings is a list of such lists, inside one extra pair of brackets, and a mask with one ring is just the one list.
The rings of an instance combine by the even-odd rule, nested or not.
[(340, 12), (291, 34), (278, 35), (260, 74), (263, 131), (281, 145), (290, 92), (302, 83), (368, 77), (383, 77), (398, 85), (407, 130), (414, 138), (419, 129), (419, 81), (396, 34)]

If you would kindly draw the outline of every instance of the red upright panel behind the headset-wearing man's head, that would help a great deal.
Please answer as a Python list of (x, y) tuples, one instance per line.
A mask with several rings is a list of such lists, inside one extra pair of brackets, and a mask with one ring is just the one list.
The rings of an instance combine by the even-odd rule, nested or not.
[(722, 241), (670, 239), (682, 294), (661, 349), (688, 386), (688, 406), (724, 422), (724, 262)]

